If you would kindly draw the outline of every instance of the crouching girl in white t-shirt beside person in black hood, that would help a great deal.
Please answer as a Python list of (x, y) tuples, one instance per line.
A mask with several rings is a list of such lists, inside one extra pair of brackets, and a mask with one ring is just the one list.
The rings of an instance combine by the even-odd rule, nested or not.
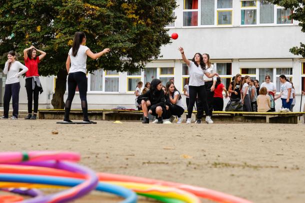
[(184, 105), (182, 103), (182, 97), (180, 92), (176, 89), (174, 86), (173, 82), (167, 82), (166, 83), (166, 92), (169, 95), (169, 100), (170, 100), (170, 112), (172, 115), (178, 116), (178, 121), (177, 123), (182, 122), (181, 115), (184, 112)]

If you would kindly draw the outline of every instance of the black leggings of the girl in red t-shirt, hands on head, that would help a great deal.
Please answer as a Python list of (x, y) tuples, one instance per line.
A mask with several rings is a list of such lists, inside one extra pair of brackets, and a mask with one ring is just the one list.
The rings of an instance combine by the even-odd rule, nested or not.
[(35, 87), (32, 87), (32, 77), (28, 77), (25, 79), (25, 89), (27, 94), (27, 112), (32, 113), (32, 102), (33, 102), (33, 95), (34, 95), (34, 113), (38, 112), (38, 96), (39, 96), (39, 89), (37, 83), (35, 82)]

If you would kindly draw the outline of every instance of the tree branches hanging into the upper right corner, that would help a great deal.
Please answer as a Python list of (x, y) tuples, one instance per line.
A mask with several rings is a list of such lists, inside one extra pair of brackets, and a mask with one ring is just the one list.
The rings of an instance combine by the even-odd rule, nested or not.
[[(288, 19), (299, 21), (298, 25), (301, 26), (301, 31), (305, 32), (305, 1), (304, 0), (267, 0), (273, 4), (283, 6), (284, 8), (290, 8), (293, 13), (289, 15)], [(289, 51), (295, 55), (301, 55), (305, 57), (305, 44), (300, 42), (300, 47), (293, 46)]]

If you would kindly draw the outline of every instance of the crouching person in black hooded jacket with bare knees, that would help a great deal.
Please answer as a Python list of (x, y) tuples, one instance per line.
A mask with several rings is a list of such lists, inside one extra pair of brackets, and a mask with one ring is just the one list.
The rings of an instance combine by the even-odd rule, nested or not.
[(162, 90), (162, 82), (159, 79), (152, 79), (150, 89), (137, 98), (137, 102), (141, 103), (144, 118), (142, 123), (149, 123), (147, 117), (148, 112), (157, 117), (157, 123), (163, 123), (162, 113), (166, 110), (164, 91)]

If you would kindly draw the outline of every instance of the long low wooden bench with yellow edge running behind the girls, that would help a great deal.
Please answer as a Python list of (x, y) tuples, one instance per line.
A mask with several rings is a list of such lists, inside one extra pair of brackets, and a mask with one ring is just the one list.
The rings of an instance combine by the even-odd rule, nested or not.
[[(192, 118), (195, 119), (193, 111)], [(183, 118), (186, 118), (184, 111)], [(236, 112), (236, 111), (213, 111), (212, 119), (223, 122), (259, 122), (259, 123), (297, 123), (297, 117), (305, 112)], [(88, 117), (92, 120), (140, 120), (141, 110), (119, 109), (89, 109)], [(38, 109), (39, 119), (63, 119), (64, 109)], [(81, 120), (81, 109), (71, 109), (70, 119)]]

